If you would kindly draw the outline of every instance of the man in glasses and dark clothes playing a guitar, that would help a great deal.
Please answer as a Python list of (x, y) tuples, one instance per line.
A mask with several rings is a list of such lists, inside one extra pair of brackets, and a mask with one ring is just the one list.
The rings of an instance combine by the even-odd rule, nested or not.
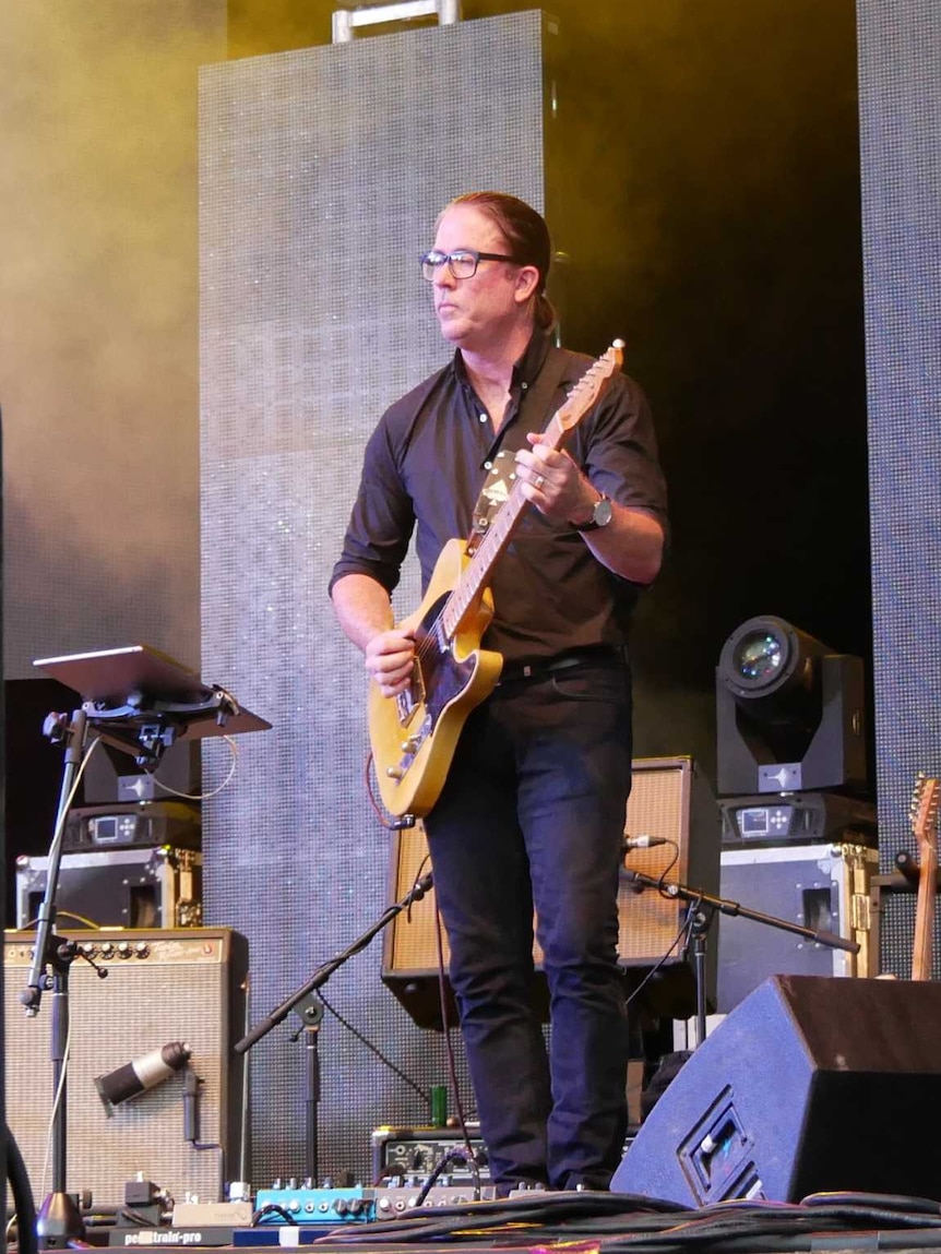
[[(626, 645), (666, 534), (650, 411), (632, 380), (612, 374), (565, 448), (546, 434), (590, 366), (552, 346), (550, 258), (546, 223), (512, 196), (469, 193), (440, 214), (422, 268), (455, 354), (370, 438), (331, 579), (340, 624), (365, 657), (376, 720), (391, 711), (396, 732), (401, 724), (395, 752), (401, 739), (404, 756), (383, 771), (390, 789), (425, 769), (425, 749), (434, 756), (438, 706), (428, 690), (442, 667), (469, 648), (468, 673), (477, 675), (496, 657), (486, 683), (468, 681), (473, 693), (453, 698), (459, 717), (442, 734), (445, 766), (418, 795), (427, 798), (450, 981), (502, 1194), (521, 1184), (603, 1189), (622, 1154)], [(479, 597), (467, 614), (452, 611), (450, 627), (472, 637), (460, 647), (445, 598), (444, 613), (427, 597), (428, 614), (396, 626), (390, 593), (413, 530), (428, 593), (448, 543), (492, 522), (478, 514), (501, 453), (509, 468), (501, 490), (527, 508), (488, 578), (492, 617)], [(473, 652), (474, 632), (487, 652)], [(425, 667), (429, 648), (434, 665)], [(452, 676), (455, 692), (462, 676)], [(449, 702), (440, 702), (442, 720)], [(531, 1002), (533, 912), (550, 989), (548, 1057)]]

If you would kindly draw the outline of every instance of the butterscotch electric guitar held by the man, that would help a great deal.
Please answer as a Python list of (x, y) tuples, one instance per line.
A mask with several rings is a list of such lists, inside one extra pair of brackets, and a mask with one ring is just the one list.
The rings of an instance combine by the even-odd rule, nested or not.
[[(545, 444), (561, 446), (620, 367), (622, 349), (615, 340), (582, 375), (550, 419)], [(408, 688), (385, 697), (370, 683), (369, 739), (379, 794), (390, 814), (428, 814), (444, 786), (460, 729), (497, 685), (503, 658), (479, 647), (493, 618), (488, 583), (527, 504), (521, 482), (513, 478), (473, 552), (468, 540), (448, 540), (422, 604), (401, 622), (414, 631), (415, 641)]]

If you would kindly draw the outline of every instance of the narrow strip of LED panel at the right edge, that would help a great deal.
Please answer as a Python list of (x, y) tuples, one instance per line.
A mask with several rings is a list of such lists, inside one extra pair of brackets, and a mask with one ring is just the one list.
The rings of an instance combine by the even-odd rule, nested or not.
[[(876, 749), (882, 869), (915, 849), (918, 771), (941, 772), (941, 10), (858, 0)], [(913, 897), (882, 923), (907, 974)], [(937, 949), (937, 946), (936, 946)], [(941, 969), (936, 954), (936, 973)]]

